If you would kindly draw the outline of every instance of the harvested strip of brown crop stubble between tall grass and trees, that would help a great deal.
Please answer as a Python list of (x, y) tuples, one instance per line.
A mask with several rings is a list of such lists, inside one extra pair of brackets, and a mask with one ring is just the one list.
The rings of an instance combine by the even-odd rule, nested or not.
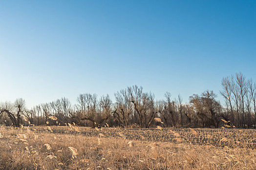
[[(237, 129), (121, 129), (85, 127), (51, 126), (51, 131), (44, 127), (33, 128), (37, 132), (51, 132), (55, 134), (81, 134), (90, 137), (126, 138), (128, 140), (143, 140), (154, 142), (189, 143), (200, 145), (229, 146), (256, 149), (256, 130)], [(227, 140), (224, 140), (227, 138)]]

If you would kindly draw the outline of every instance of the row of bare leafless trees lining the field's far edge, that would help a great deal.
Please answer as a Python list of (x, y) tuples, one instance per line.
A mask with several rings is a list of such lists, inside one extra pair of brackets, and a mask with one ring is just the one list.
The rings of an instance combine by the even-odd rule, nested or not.
[[(80, 94), (72, 105), (67, 98), (26, 108), (21, 98), (15, 102), (0, 103), (0, 124), (6, 126), (58, 125), (74, 122), (80, 126), (109, 127), (256, 127), (256, 83), (242, 73), (225, 77), (222, 89), (217, 92), (224, 103), (216, 100), (217, 94), (206, 90), (193, 94), (189, 103), (179, 95), (173, 99), (166, 92), (164, 100), (156, 101), (154, 94), (144, 92), (137, 85), (117, 91), (115, 102), (109, 95)], [(160, 121), (155, 121), (160, 118)]]

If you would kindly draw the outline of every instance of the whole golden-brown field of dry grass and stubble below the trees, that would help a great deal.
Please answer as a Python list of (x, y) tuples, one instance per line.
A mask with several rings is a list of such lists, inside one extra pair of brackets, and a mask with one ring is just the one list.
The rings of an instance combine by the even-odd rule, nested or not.
[(256, 131), (0, 127), (3, 170), (255, 170)]

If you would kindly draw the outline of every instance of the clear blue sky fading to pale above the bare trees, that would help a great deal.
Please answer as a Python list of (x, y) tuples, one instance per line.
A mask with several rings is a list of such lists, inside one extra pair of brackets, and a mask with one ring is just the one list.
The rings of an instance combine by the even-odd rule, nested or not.
[(184, 102), (256, 80), (256, 0), (1, 0), (0, 101), (28, 107), (141, 85)]

